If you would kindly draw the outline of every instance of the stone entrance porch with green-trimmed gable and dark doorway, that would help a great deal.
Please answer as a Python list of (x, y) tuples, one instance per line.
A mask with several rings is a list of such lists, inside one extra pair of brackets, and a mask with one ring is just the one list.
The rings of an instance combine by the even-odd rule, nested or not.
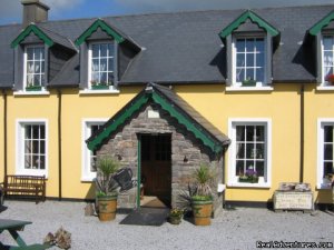
[[(121, 156), (146, 194), (177, 207), (200, 163), (216, 172), (213, 190), (223, 183), (223, 154), (229, 139), (171, 89), (149, 83), (88, 140), (97, 156)], [(138, 178), (140, 177), (140, 178)], [(214, 208), (223, 206), (214, 193)], [(122, 193), (119, 208), (138, 208), (140, 190)]]

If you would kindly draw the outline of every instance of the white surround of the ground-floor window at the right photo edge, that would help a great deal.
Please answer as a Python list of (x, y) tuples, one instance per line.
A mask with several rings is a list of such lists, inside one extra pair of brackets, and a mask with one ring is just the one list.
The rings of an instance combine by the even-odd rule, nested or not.
[(331, 189), (331, 183), (324, 183), (324, 126), (334, 126), (334, 118), (318, 118), (317, 119), (317, 168), (316, 168), (316, 188)]

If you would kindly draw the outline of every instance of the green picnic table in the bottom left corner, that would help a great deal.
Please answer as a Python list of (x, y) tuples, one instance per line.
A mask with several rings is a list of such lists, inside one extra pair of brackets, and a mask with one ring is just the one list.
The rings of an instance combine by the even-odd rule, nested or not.
[(11, 237), (18, 243), (18, 246), (6, 246), (0, 242), (0, 249), (26, 249), (26, 250), (42, 250), (48, 249), (51, 246), (49, 244), (30, 244), (28, 246), (24, 240), (20, 237), (18, 231), (22, 231), (26, 224), (31, 224), (31, 221), (22, 221), (22, 220), (7, 220), (0, 219), (0, 233), (4, 230), (9, 231)]

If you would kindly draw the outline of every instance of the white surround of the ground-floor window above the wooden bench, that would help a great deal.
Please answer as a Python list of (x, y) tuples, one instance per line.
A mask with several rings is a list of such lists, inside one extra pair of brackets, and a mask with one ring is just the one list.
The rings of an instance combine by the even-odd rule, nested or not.
[[(46, 169), (24, 169), (24, 136), (23, 126), (26, 124), (43, 124), (46, 127)], [(28, 176), (46, 176), (49, 172), (49, 121), (48, 119), (17, 119), (16, 120), (16, 173)]]

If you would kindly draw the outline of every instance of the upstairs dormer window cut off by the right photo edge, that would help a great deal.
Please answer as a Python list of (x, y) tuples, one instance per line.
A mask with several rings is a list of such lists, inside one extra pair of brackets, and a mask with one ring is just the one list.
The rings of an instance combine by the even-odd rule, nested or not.
[(334, 36), (323, 36), (323, 82), (334, 86)]

